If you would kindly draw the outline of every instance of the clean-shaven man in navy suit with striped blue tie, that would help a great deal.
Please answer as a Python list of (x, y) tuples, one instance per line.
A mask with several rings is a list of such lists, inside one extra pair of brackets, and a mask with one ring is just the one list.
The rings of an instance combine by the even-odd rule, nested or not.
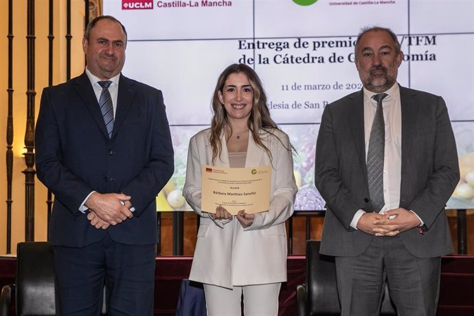
[(113, 16), (93, 19), (84, 73), (41, 97), (36, 168), (55, 198), (49, 241), (63, 316), (99, 315), (104, 284), (109, 315), (153, 315), (155, 196), (174, 171), (173, 149), (161, 91), (121, 74), (126, 39)]

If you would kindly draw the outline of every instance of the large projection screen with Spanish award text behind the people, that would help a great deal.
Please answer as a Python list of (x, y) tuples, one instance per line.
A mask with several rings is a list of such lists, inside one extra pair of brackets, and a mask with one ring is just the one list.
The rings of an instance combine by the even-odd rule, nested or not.
[(354, 42), (362, 27), (390, 27), (404, 61), (398, 82), (442, 95), (462, 179), (449, 208), (474, 208), (474, 1), (470, 0), (104, 0), (128, 32), (123, 74), (163, 91), (175, 172), (157, 210), (190, 210), (181, 196), (190, 137), (207, 128), (218, 75), (253, 67), (275, 122), (297, 153), (295, 208), (324, 210), (314, 185), (324, 106), (361, 89)]

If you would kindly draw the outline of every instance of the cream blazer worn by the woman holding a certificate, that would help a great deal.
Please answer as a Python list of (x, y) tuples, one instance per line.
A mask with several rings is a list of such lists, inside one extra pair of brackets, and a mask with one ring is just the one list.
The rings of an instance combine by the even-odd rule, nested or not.
[[(190, 140), (188, 169), (183, 196), (201, 216), (190, 280), (232, 289), (232, 286), (286, 281), (286, 229), (284, 222), (293, 214), (297, 186), (289, 137), (280, 130), (274, 135), (261, 132), (273, 161), (249, 137), (245, 167), (272, 165), (271, 197), (268, 212), (258, 213), (250, 227), (242, 228), (236, 218), (225, 223), (213, 221), (201, 212), (201, 166), (212, 166), (210, 129)], [(278, 140), (277, 137), (280, 140)], [(229, 167), (224, 135), (222, 154), (214, 166)]]

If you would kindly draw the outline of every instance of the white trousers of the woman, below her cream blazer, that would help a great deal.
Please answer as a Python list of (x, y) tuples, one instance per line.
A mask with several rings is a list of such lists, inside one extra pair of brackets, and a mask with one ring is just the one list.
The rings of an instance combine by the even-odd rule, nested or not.
[(278, 295), (281, 283), (234, 286), (204, 284), (205, 302), (208, 316), (240, 316), (241, 300), (245, 316), (277, 316)]

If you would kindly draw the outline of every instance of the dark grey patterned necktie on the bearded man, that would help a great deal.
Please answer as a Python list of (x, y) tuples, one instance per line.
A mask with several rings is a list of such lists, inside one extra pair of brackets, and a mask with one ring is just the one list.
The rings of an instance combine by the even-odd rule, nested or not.
[(383, 156), (385, 151), (385, 121), (383, 120), (382, 100), (386, 93), (379, 93), (372, 98), (377, 102), (374, 122), (370, 131), (369, 149), (367, 152), (367, 172), (369, 181), (370, 201), (374, 212), (380, 212), (385, 201), (383, 199)]

